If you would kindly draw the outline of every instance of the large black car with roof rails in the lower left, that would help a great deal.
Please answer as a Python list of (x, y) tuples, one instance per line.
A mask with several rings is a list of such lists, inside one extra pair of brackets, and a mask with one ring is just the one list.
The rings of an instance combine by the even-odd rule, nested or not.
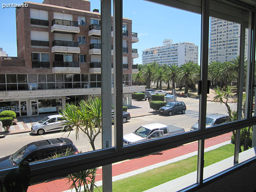
[(23, 161), (35, 163), (49, 160), (56, 154), (63, 157), (67, 150), (70, 151), (71, 154), (78, 154), (79, 152), (72, 140), (68, 138), (36, 141), (23, 146), (12, 155), (0, 158), (0, 167), (14, 167), (20, 165)]

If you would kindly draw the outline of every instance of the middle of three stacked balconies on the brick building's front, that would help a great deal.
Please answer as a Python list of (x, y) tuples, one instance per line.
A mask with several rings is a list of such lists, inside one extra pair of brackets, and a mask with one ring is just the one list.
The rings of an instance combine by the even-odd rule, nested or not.
[(63, 53), (80, 53), (78, 42), (74, 41), (52, 41), (52, 53), (63, 52)]

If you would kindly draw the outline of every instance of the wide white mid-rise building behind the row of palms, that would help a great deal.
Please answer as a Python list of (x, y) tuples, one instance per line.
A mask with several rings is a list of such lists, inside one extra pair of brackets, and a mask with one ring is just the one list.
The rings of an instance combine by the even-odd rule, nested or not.
[(182, 65), (186, 62), (198, 63), (198, 45), (189, 42), (172, 44), (172, 39), (165, 39), (163, 46), (143, 50), (142, 63)]

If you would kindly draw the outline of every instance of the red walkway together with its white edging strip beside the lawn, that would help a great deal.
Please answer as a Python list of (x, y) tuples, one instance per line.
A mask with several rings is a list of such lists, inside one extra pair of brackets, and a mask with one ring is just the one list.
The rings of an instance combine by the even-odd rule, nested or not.
[[(220, 146), (220, 144), (229, 143), (232, 133), (223, 134), (218, 137), (213, 137), (205, 140), (205, 148), (212, 150)], [(216, 146), (217, 145), (217, 146)], [(157, 154), (151, 154), (145, 157), (140, 157), (132, 160), (115, 163), (112, 165), (113, 181), (122, 178), (130, 177), (141, 172), (154, 169), (174, 161), (186, 159), (197, 154), (198, 142), (181, 145), (177, 148), (172, 148), (166, 151), (161, 151)], [(96, 182), (102, 184), (102, 169), (96, 172)], [(67, 179), (57, 179), (37, 185), (29, 186), (28, 192), (64, 192), (69, 188)]]

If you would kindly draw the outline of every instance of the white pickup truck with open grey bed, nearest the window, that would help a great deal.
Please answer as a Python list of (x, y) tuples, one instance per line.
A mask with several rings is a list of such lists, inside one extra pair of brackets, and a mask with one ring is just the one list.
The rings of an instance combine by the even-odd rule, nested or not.
[(160, 137), (167, 137), (170, 135), (176, 135), (184, 132), (185, 131), (183, 128), (179, 128), (173, 125), (163, 125), (160, 123), (142, 125), (141, 127), (137, 128), (133, 133), (124, 135), (123, 145), (140, 143), (143, 141), (153, 140)]

